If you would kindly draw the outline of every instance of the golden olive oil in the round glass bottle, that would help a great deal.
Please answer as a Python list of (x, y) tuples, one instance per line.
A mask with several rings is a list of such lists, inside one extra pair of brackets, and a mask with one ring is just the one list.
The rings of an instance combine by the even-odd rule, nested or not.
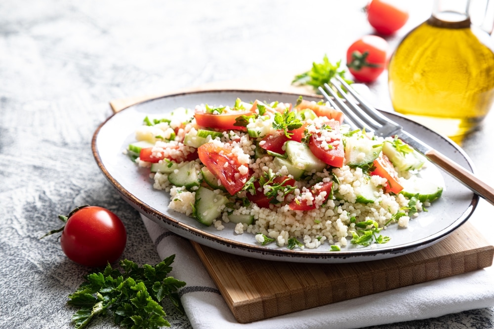
[(431, 16), (402, 40), (391, 57), (394, 109), (461, 142), (493, 107), (490, 41), (468, 17), (452, 22)]

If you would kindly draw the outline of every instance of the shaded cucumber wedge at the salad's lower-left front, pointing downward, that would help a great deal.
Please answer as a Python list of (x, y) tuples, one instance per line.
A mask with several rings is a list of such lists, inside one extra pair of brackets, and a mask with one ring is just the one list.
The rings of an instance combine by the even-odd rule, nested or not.
[(207, 187), (200, 186), (196, 191), (194, 217), (199, 222), (210, 226), (214, 219), (217, 219), (221, 215), (221, 208), (227, 202), (228, 198), (224, 195), (215, 193)]

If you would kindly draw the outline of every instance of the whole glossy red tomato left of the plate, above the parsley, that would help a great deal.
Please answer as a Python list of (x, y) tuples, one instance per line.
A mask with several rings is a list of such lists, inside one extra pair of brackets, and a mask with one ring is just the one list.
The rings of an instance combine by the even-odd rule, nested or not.
[(95, 206), (83, 206), (72, 211), (60, 238), (67, 257), (91, 267), (115, 262), (122, 256), (126, 242), (125, 227), (117, 215)]

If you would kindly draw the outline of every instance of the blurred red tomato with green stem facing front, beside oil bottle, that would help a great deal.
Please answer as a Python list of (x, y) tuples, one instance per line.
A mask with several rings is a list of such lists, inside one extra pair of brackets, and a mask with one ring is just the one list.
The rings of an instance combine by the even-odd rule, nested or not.
[(386, 68), (388, 53), (388, 42), (382, 37), (361, 37), (346, 52), (348, 71), (361, 82), (372, 82)]

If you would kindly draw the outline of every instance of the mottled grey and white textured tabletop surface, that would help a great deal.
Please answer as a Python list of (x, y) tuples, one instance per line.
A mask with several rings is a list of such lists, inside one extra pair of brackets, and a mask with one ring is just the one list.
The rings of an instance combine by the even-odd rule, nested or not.
[[(110, 100), (298, 73), (325, 53), (342, 58), (353, 39), (371, 33), (362, 23), (366, 1), (342, 2), (1, 1), (0, 328), (71, 328), (66, 297), (87, 268), (64, 256), (56, 236), (39, 237), (76, 206), (103, 206), (124, 221), (123, 257), (160, 260), (137, 212), (91, 153), (93, 132), (112, 113)], [(342, 7), (355, 21), (340, 14)], [(428, 16), (418, 9), (415, 22)], [(337, 25), (346, 33), (328, 29)], [(371, 90), (381, 87), (382, 80)], [(465, 147), (480, 159), (476, 143)], [(172, 328), (190, 327), (170, 305), (165, 311)], [(487, 328), (493, 319), (493, 309), (481, 309), (383, 328)], [(97, 321), (92, 328), (113, 326)]]

